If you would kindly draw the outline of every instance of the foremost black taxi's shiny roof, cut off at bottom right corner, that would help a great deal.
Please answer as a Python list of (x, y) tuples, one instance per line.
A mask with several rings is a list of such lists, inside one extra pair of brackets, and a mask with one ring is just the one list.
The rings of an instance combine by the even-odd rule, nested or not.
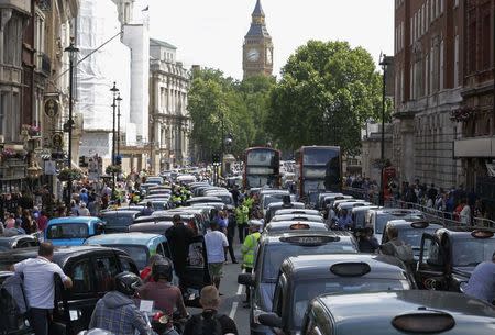
[(462, 293), (387, 291), (326, 294), (312, 300), (302, 335), (488, 335), (495, 309)]

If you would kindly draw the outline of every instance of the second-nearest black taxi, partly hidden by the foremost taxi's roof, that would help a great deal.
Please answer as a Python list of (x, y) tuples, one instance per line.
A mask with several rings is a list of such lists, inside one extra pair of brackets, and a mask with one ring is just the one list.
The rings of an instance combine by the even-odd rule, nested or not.
[(273, 312), (258, 315), (275, 333), (296, 334), (310, 300), (328, 293), (377, 292), (416, 288), (414, 277), (385, 255), (305, 255), (280, 266)]

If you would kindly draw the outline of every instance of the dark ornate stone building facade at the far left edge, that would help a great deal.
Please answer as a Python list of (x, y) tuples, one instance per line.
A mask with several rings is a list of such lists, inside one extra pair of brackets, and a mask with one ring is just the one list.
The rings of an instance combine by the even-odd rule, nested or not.
[[(0, 191), (19, 191), (42, 175), (44, 160), (64, 158), (68, 56), (78, 0), (0, 1)], [(48, 109), (47, 105), (55, 107)], [(48, 113), (55, 110), (55, 114)], [(50, 114), (50, 115), (48, 115)], [(57, 154), (59, 154), (57, 156)], [(55, 192), (56, 178), (43, 178)]]

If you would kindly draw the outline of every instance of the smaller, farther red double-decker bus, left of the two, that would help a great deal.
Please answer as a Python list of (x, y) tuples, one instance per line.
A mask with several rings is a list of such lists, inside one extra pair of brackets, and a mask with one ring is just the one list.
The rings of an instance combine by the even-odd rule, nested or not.
[(270, 147), (252, 147), (244, 152), (244, 188), (280, 186), (280, 152)]

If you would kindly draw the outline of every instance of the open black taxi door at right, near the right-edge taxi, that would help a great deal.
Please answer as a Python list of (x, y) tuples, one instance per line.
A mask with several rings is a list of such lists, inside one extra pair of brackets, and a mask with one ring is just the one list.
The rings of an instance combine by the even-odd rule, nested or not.
[(422, 234), (416, 271), (420, 289), (442, 289), (446, 282), (446, 256), (437, 236)]

